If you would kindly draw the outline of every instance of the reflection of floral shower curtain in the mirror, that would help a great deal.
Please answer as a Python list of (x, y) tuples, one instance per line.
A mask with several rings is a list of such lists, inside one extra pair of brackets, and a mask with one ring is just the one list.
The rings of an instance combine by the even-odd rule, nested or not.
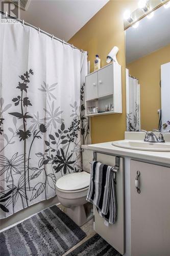
[(136, 132), (140, 130), (140, 84), (138, 79), (129, 77), (128, 88), (127, 131)]

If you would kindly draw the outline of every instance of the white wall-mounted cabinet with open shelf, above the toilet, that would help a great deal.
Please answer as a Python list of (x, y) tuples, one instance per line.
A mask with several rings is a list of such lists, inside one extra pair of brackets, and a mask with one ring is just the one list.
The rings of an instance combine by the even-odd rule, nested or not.
[(120, 65), (113, 62), (87, 75), (85, 88), (86, 116), (122, 113), (122, 70)]

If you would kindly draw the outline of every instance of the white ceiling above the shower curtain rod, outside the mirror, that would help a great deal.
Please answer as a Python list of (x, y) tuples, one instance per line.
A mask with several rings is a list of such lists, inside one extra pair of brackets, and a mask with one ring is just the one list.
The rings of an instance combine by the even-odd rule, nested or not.
[(109, 0), (31, 0), (20, 18), (68, 41)]

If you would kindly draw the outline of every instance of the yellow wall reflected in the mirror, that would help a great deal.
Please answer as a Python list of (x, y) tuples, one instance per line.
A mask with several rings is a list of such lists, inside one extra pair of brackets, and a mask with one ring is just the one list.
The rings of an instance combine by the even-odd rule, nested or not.
[(160, 66), (170, 61), (170, 45), (127, 65), (129, 74), (139, 79), (141, 129), (158, 129), (161, 108)]

